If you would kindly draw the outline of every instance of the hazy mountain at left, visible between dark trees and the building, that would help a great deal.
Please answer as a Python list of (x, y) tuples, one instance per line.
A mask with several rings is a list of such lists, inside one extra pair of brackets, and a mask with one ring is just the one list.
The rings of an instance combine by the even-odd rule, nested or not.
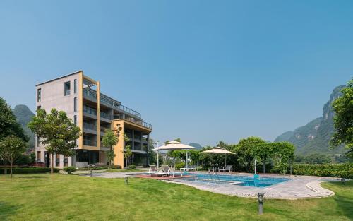
[(28, 142), (28, 149), (34, 150), (35, 149), (35, 134), (27, 127), (28, 122), (32, 120), (32, 117), (35, 114), (26, 106), (26, 105), (16, 105), (15, 109), (12, 110), (13, 114), (16, 116), (16, 120), (20, 125), (23, 127), (23, 130), (30, 138)]

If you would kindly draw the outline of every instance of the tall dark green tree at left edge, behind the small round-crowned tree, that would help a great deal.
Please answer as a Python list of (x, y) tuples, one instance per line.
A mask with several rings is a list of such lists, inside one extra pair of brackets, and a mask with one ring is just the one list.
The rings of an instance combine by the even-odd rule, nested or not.
[[(16, 121), (11, 107), (0, 97), (0, 141), (12, 135), (21, 138), (26, 143), (29, 141), (22, 126)], [(0, 159), (4, 161), (4, 174), (6, 174), (8, 160), (4, 158), (4, 153), (0, 153)]]

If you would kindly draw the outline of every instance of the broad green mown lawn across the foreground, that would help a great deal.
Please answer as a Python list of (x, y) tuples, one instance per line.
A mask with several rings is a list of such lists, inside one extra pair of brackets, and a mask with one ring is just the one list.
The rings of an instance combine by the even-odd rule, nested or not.
[(353, 181), (323, 186), (336, 195), (266, 200), (257, 215), (256, 199), (151, 179), (0, 175), (0, 220), (353, 220)]

